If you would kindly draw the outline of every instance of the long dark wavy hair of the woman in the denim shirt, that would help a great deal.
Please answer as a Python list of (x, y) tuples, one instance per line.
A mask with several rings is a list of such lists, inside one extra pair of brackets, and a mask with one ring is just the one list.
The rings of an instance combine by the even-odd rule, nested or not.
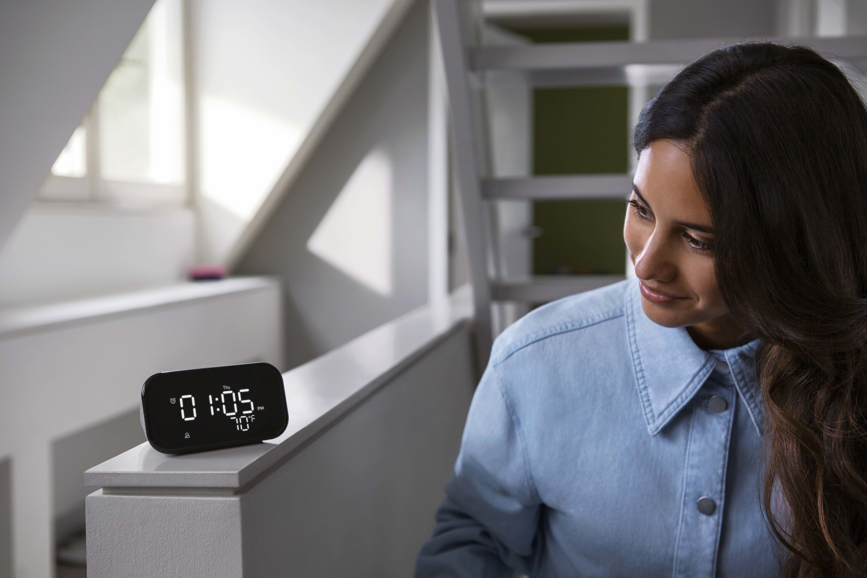
[(761, 340), (763, 506), (785, 576), (867, 575), (867, 109), (812, 49), (733, 44), (644, 108), (714, 223), (716, 276)]

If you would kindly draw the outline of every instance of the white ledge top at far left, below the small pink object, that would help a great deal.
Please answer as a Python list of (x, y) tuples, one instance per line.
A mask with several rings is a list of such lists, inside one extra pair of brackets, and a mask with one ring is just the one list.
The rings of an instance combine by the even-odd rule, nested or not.
[(164, 308), (194, 300), (277, 287), (270, 277), (235, 277), (220, 281), (178, 283), (75, 301), (0, 309), (0, 340), (75, 323)]

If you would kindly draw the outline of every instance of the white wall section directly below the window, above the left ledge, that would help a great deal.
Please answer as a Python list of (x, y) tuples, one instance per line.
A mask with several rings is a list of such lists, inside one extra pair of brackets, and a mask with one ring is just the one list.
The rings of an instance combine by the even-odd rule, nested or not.
[(193, 242), (187, 208), (33, 205), (0, 251), (0, 307), (177, 283)]

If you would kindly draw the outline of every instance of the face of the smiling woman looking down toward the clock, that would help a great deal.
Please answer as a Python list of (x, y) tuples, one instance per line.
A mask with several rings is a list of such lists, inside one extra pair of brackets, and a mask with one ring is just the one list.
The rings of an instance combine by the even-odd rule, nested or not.
[(662, 326), (699, 326), (728, 313), (714, 273), (714, 230), (688, 153), (656, 140), (638, 159), (623, 239), (644, 313)]

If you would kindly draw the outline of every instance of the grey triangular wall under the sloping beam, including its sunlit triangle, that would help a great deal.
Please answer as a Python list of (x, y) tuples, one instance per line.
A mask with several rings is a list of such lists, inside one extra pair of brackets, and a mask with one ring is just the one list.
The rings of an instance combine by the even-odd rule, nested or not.
[(287, 367), (427, 302), (427, 25), (419, 0), (238, 265), (281, 278)]

